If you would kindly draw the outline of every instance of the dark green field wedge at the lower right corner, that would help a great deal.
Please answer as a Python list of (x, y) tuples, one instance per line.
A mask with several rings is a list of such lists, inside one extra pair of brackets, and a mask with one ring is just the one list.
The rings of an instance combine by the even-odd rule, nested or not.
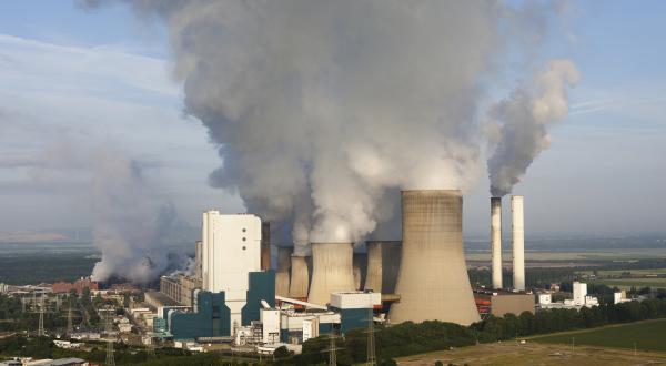
[(596, 329), (566, 332), (532, 338), (538, 343), (559, 343), (599, 347), (666, 352), (666, 319), (645, 321)]

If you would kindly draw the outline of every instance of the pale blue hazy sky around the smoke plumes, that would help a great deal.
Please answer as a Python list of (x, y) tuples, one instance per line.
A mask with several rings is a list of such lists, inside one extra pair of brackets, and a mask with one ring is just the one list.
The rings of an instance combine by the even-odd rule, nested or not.
[[(569, 116), (515, 189), (525, 195), (526, 231), (664, 232), (666, 2), (575, 8), (539, 49), (572, 59), (582, 79)], [(208, 185), (221, 160), (201, 123), (183, 116), (170, 75), (165, 30), (124, 7), (4, 2), (0, 231), (89, 226), (100, 150), (139, 161), (155, 195), (192, 225), (208, 207), (243, 211), (233, 192)], [(487, 232), (487, 186), (483, 179), (465, 197), (467, 234)]]

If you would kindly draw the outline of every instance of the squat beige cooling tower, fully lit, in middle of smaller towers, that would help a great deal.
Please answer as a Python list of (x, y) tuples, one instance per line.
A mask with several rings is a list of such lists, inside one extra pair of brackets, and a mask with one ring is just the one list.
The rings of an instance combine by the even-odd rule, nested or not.
[(325, 305), (331, 293), (354, 291), (352, 243), (312, 243), (312, 282), (307, 302)]

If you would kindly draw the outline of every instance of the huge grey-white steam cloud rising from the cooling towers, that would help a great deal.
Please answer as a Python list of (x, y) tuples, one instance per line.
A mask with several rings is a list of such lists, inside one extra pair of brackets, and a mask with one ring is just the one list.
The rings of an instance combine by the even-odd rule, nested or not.
[(211, 184), (291, 222), (296, 253), (372, 233), (387, 190), (470, 189), (483, 82), (507, 38), (544, 28), (544, 9), (498, 1), (123, 2), (169, 28), (186, 112), (224, 161)]

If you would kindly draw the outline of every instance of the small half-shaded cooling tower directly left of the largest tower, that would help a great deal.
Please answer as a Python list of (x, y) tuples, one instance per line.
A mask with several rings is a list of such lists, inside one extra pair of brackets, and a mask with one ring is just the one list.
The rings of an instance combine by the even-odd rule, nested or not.
[(395, 281), (400, 267), (400, 241), (367, 242), (367, 276), (365, 289), (375, 293), (395, 293)]

